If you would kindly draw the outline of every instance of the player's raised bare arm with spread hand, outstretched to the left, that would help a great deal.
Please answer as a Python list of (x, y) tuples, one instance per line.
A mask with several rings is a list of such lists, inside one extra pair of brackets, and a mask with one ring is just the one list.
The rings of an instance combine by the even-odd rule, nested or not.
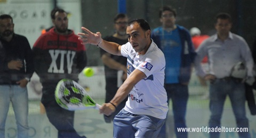
[(121, 46), (115, 42), (109, 42), (105, 41), (101, 38), (101, 33), (96, 32), (93, 33), (90, 30), (88, 30), (85, 27), (82, 27), (82, 30), (85, 32), (79, 32), (78, 36), (80, 36), (78, 39), (82, 40), (82, 44), (92, 44), (92, 45), (98, 45), (102, 49), (106, 50), (108, 53), (113, 55), (121, 55)]

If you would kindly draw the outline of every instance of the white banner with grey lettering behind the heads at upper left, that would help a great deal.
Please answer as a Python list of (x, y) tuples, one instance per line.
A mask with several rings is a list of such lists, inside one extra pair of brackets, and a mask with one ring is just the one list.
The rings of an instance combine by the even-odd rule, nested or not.
[[(69, 29), (76, 33), (81, 30), (81, 1), (62, 0), (58, 6), (69, 13)], [(10, 14), (14, 22), (14, 32), (26, 36), (32, 47), (43, 29), (52, 26), (51, 10), (53, 0), (0, 0), (0, 15)]]

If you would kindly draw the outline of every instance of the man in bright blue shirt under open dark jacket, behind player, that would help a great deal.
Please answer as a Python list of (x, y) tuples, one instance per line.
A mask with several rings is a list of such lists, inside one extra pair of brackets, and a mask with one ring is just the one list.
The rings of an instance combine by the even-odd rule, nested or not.
[[(187, 137), (187, 132), (178, 132), (177, 128), (186, 126), (186, 110), (188, 101), (188, 83), (192, 64), (196, 55), (189, 31), (175, 24), (176, 11), (170, 6), (164, 6), (159, 11), (162, 26), (155, 28), (151, 38), (163, 51), (166, 61), (165, 89), (167, 102), (172, 99), (174, 128), (177, 137)], [(167, 123), (168, 120), (166, 120)], [(158, 137), (165, 136), (165, 125)]]

